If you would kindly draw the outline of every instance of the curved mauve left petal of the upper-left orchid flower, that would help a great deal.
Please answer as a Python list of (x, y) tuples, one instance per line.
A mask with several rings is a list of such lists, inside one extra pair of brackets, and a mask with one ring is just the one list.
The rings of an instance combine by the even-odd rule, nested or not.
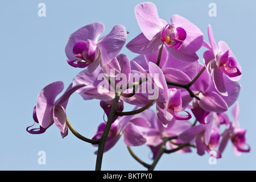
[(73, 47), (75, 44), (81, 40), (85, 42), (87, 39), (93, 40), (93, 42), (97, 42), (100, 35), (104, 32), (105, 27), (104, 24), (100, 22), (95, 22), (88, 24), (79, 30), (73, 32), (68, 38), (67, 45), (65, 47), (65, 53), (69, 60), (75, 60), (76, 56), (73, 53)]

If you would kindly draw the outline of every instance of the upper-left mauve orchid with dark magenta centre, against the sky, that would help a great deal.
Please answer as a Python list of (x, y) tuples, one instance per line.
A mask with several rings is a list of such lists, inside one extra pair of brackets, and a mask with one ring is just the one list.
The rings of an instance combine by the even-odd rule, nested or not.
[(68, 38), (65, 53), (68, 64), (75, 68), (85, 68), (92, 73), (100, 64), (109, 64), (121, 51), (126, 42), (125, 27), (118, 24), (109, 34), (98, 38), (104, 32), (104, 24), (95, 22), (73, 32)]

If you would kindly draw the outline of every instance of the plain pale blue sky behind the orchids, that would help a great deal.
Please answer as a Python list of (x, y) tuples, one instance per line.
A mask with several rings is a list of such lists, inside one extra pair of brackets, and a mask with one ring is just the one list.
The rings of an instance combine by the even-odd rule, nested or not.
[[(46, 4), (46, 17), (38, 16), (38, 4)], [(127, 42), (141, 33), (134, 7), (143, 1), (0, 1), (0, 169), (1, 170), (94, 170), (96, 147), (84, 143), (69, 132), (62, 139), (55, 125), (46, 133), (31, 135), (26, 127), (34, 123), (32, 111), (39, 92), (47, 84), (62, 80), (65, 88), (81, 71), (70, 67), (65, 56), (68, 36), (93, 22), (105, 25), (108, 34), (115, 24), (123, 24), (130, 32)], [(208, 163), (209, 155), (165, 154), (155, 170), (255, 170), (255, 30), (256, 1), (151, 1), (159, 17), (170, 23), (174, 14), (184, 16), (204, 33), (212, 25), (216, 42), (224, 40), (242, 67), (240, 125), (247, 129), (251, 152), (236, 157), (229, 142), (216, 165)], [(210, 3), (216, 3), (217, 16), (210, 17)], [(127, 43), (126, 42), (126, 43)], [(204, 50), (204, 49), (203, 49)], [(124, 47), (129, 59), (137, 56)], [(202, 62), (203, 51), (199, 51)], [(92, 137), (102, 122), (99, 100), (84, 101), (79, 94), (69, 99), (67, 114), (75, 129)], [(129, 111), (133, 107), (125, 105)], [(230, 118), (232, 119), (232, 118)], [(132, 147), (144, 162), (151, 163), (148, 147)], [(46, 152), (46, 164), (39, 165), (39, 151)], [(123, 138), (104, 154), (102, 170), (146, 170), (129, 154)]]

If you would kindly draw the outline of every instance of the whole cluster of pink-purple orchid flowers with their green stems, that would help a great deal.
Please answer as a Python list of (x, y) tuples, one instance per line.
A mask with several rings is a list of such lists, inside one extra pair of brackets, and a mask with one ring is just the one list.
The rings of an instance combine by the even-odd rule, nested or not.
[[(191, 152), (191, 147), (199, 155), (216, 151), (214, 157), (221, 158), (229, 140), (236, 155), (249, 152), (246, 130), (238, 123), (241, 67), (228, 45), (215, 42), (210, 25), (207, 43), (199, 28), (182, 16), (173, 15), (171, 24), (167, 23), (151, 2), (139, 3), (135, 16), (142, 33), (126, 44), (139, 54), (131, 61), (120, 53), (129, 34), (121, 24), (101, 38), (105, 28), (100, 22), (69, 36), (67, 62), (85, 69), (57, 100), (63, 81), (43, 88), (33, 113), (40, 127), (30, 126), (27, 131), (42, 134), (55, 123), (64, 138), (71, 130), (98, 147), (96, 169), (100, 169), (103, 153), (121, 136), (133, 156), (131, 146), (149, 146), (155, 163), (164, 153)], [(203, 64), (196, 53), (200, 48), (206, 49)], [(157, 94), (152, 96), (150, 88)], [(65, 108), (75, 92), (84, 100), (100, 100), (102, 114), (108, 116), (91, 139), (77, 133), (67, 119)], [(135, 105), (134, 110), (123, 111), (124, 102)], [(153, 105), (156, 107), (151, 109)], [(232, 105), (233, 122), (226, 114)], [(141, 163), (148, 169), (155, 165)]]

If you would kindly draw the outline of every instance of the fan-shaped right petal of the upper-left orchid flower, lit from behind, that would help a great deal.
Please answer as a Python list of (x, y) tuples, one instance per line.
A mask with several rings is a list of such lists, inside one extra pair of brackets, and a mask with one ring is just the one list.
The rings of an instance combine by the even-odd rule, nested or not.
[(100, 39), (97, 46), (100, 48), (102, 62), (104, 66), (108, 64), (121, 51), (126, 42), (127, 32), (125, 27), (118, 24), (112, 28), (112, 31), (104, 38)]

